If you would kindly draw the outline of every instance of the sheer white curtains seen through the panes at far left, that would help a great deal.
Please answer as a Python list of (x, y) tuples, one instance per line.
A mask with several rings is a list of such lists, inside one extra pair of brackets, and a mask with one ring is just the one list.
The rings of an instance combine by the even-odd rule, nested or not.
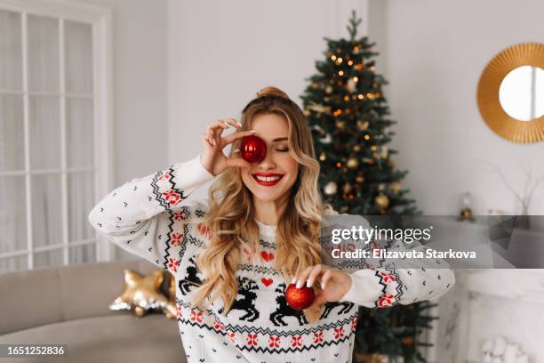
[[(28, 150), (32, 173), (33, 247), (94, 237), (87, 222), (94, 203), (94, 172), (62, 169), (94, 166), (92, 26), (64, 22), (65, 139), (61, 135), (60, 27), (58, 19), (28, 15)], [(0, 10), (0, 255), (27, 249), (21, 14)], [(60, 171), (60, 173), (59, 173)], [(62, 223), (62, 175), (66, 174), (67, 225)], [(96, 246), (68, 249), (68, 263), (94, 261)], [(26, 269), (28, 256), (0, 258), (0, 272)], [(62, 249), (34, 253), (34, 267), (65, 263)]]

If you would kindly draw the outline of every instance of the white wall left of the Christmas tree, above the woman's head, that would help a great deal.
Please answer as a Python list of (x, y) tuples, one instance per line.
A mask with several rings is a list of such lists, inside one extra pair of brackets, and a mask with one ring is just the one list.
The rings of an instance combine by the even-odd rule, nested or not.
[[(264, 86), (276, 85), (301, 104), (304, 78), (324, 57), (323, 37), (347, 35), (352, 8), (365, 15), (366, 1), (171, 0), (170, 162), (196, 157), (206, 125), (239, 119)], [(207, 198), (207, 186), (191, 198)]]

